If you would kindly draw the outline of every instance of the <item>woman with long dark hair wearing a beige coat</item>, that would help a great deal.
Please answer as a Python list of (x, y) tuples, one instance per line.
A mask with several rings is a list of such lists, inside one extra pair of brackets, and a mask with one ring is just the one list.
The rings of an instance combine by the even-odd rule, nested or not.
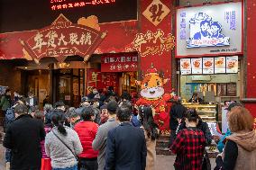
[(139, 120), (142, 123), (142, 129), (147, 145), (146, 170), (155, 169), (156, 161), (156, 139), (159, 137), (158, 125), (154, 122), (151, 106), (141, 106), (139, 108)]

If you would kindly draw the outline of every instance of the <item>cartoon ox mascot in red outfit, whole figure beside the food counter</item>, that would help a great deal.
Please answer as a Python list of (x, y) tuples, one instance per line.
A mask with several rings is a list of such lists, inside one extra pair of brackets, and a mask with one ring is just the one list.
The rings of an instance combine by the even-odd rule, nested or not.
[(172, 94), (165, 94), (164, 85), (168, 82), (163, 74), (151, 66), (147, 70), (142, 81), (137, 81), (141, 85), (141, 98), (136, 102), (137, 106), (151, 105), (155, 110), (154, 121), (159, 125), (162, 132), (169, 131), (169, 112), (167, 102), (173, 97)]

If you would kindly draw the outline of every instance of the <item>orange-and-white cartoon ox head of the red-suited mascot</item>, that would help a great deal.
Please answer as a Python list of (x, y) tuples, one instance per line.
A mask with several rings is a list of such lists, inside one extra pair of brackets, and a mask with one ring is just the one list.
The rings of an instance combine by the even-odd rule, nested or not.
[(168, 79), (160, 76), (157, 69), (153, 66), (147, 70), (147, 74), (143, 77), (142, 81), (136, 81), (138, 85), (141, 85), (142, 97), (149, 100), (159, 99), (164, 94), (163, 85), (167, 82)]

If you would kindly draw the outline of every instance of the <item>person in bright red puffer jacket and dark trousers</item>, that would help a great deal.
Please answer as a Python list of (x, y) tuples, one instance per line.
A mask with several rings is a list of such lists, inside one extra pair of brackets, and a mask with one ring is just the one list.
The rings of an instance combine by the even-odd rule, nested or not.
[(93, 140), (96, 138), (98, 125), (93, 122), (95, 119), (94, 109), (89, 106), (85, 107), (81, 113), (83, 121), (78, 122), (75, 129), (83, 146), (83, 152), (78, 156), (78, 167), (80, 170), (97, 170), (98, 152), (92, 148)]

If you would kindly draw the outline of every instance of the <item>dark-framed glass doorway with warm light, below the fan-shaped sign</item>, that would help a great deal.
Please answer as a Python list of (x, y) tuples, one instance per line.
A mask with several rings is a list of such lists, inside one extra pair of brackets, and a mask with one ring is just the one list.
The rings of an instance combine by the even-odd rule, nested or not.
[(85, 94), (85, 69), (58, 69), (54, 76), (57, 79), (56, 101), (78, 107)]

